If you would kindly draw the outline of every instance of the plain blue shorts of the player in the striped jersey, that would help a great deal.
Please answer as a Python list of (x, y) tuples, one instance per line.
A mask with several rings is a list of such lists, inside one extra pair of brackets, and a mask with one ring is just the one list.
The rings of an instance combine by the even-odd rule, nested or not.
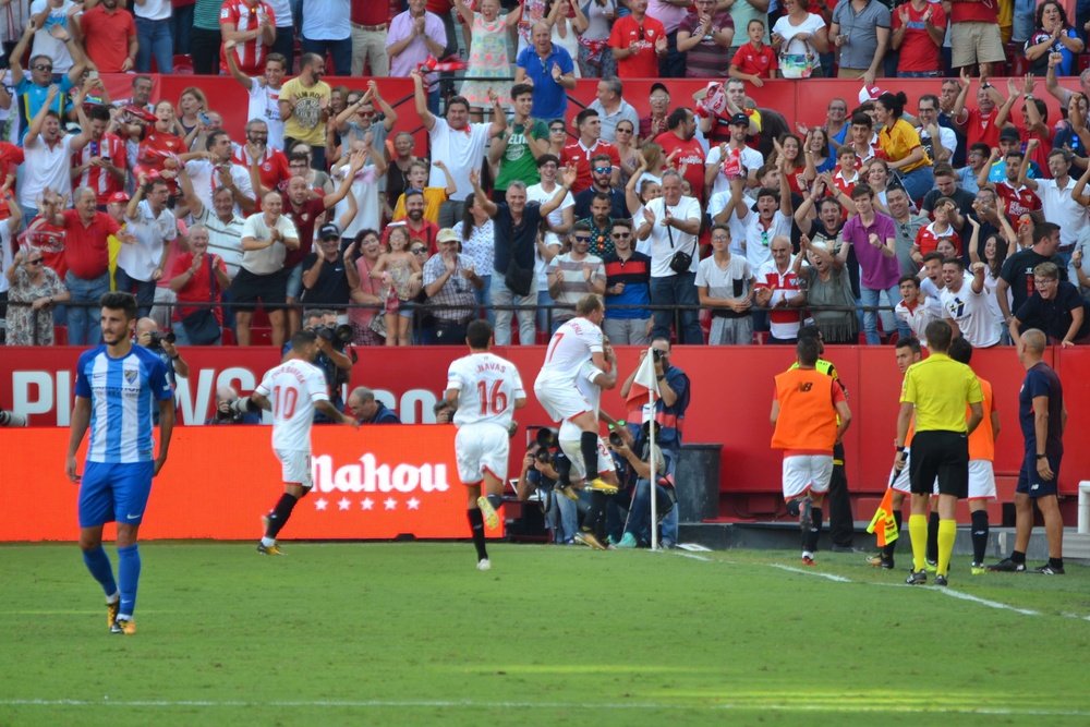
[(155, 462), (87, 462), (80, 481), (80, 526), (138, 525), (154, 473)]

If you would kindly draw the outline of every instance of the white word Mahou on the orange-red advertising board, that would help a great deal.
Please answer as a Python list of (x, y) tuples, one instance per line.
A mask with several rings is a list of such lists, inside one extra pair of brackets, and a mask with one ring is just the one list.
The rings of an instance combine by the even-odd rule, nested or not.
[(450, 489), (444, 463), (390, 465), (379, 463), (371, 452), (365, 452), (358, 462), (340, 467), (331, 455), (319, 455), (314, 458), (313, 476), (319, 493), (445, 493)]

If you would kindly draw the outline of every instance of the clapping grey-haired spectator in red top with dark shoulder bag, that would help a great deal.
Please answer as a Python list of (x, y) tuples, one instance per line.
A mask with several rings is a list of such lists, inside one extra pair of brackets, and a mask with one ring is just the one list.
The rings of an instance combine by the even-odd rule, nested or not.
[[(208, 252), (209, 231), (193, 225), (186, 240), (190, 251), (174, 258), (170, 289), (179, 305), (173, 308), (171, 328), (177, 346), (219, 346), (223, 312), (219, 303), (231, 286), (223, 258)], [(184, 303), (199, 303), (184, 305)], [(217, 396), (218, 398), (218, 396)], [(253, 422), (257, 424), (258, 422)]]

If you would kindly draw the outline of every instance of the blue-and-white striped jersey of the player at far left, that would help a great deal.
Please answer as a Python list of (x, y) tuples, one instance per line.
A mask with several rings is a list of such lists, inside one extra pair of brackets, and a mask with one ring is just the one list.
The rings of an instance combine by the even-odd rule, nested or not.
[(153, 412), (157, 402), (174, 396), (159, 356), (141, 346), (120, 359), (110, 356), (106, 346), (85, 351), (76, 363), (75, 396), (90, 400), (88, 462), (155, 459)]

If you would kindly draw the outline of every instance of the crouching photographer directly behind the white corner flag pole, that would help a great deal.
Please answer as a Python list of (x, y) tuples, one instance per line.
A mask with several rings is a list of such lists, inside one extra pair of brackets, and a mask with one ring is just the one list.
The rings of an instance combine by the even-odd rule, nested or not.
[[(628, 520), (625, 522), (625, 534), (618, 548), (634, 548), (651, 543), (651, 434), (653, 422), (647, 422), (640, 428), (633, 441), (618, 432), (609, 433), (609, 448), (620, 456), (627, 464), (621, 475), (622, 482), (634, 483), (635, 493), (628, 509)], [(627, 433), (626, 433), (627, 434)], [(655, 433), (657, 439), (658, 433)], [(677, 504), (674, 490), (674, 469), (676, 455), (669, 449), (663, 449), (655, 444), (655, 508), (658, 522), (670, 513)]]

